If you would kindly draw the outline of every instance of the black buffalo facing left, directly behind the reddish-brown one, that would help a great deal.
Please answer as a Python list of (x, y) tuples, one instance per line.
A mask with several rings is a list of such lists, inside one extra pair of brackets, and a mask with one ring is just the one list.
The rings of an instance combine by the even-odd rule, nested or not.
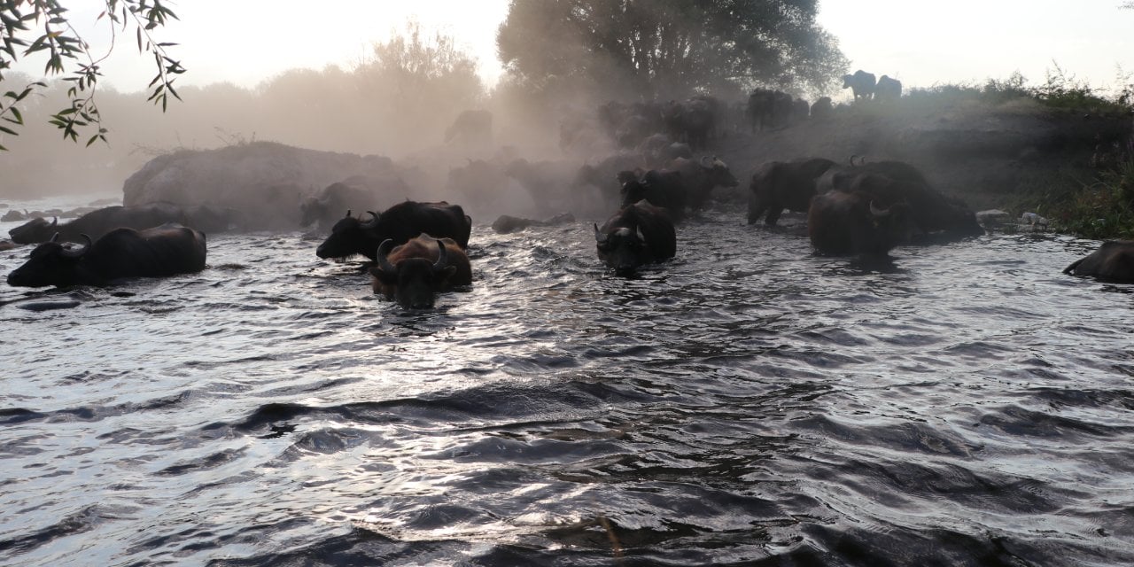
[(425, 232), (437, 237), (452, 238), (462, 248), (468, 246), (468, 235), (473, 220), (460, 205), (418, 203), (404, 201), (386, 210), (382, 214), (367, 211), (369, 221), (350, 215), (339, 219), (331, 228), (331, 235), (315, 249), (322, 259), (347, 257), (362, 254), (370, 260), (378, 259), (378, 247), (387, 239), (393, 244), (405, 244), (411, 238)]

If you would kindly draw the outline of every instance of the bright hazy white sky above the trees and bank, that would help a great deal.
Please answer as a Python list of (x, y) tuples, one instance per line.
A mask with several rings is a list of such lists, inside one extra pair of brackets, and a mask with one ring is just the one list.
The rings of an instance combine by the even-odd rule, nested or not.
[[(101, 2), (67, 2), (76, 28), (95, 51), (108, 35), (93, 25)], [(392, 31), (416, 19), (424, 28), (452, 35), (480, 61), (494, 83), (501, 73), (496, 31), (506, 0), (191, 0), (167, 2), (180, 20), (159, 29), (174, 41), (172, 54), (188, 73), (178, 84), (228, 81), (255, 86), (295, 67), (328, 64), (352, 68)], [(906, 87), (939, 83), (983, 83), (1021, 71), (1030, 83), (1058, 64), (1092, 86), (1116, 85), (1119, 67), (1134, 73), (1134, 10), (1119, 0), (827, 0), (820, 23), (838, 37), (850, 69), (899, 78)], [(318, 8), (315, 8), (318, 7)], [(104, 26), (102, 26), (104, 27)], [(102, 27), (99, 27), (100, 29)], [(152, 60), (139, 57), (133, 31), (118, 39), (103, 65), (104, 82), (138, 91), (153, 76)], [(37, 74), (43, 61), (17, 68)], [(1131, 82), (1131, 81), (1127, 81)]]

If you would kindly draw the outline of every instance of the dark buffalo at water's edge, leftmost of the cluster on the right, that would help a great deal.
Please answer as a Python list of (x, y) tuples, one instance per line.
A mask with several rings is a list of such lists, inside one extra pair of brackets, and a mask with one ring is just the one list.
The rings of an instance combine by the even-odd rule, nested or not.
[(748, 225), (761, 215), (769, 227), (776, 226), (784, 209), (804, 212), (815, 196), (815, 180), (835, 162), (823, 158), (797, 161), (771, 161), (752, 175), (748, 185)]

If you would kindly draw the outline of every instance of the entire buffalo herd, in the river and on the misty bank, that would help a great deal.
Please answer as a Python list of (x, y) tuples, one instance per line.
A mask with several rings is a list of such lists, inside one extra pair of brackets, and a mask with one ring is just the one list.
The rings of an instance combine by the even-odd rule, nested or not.
[[(873, 75), (858, 71), (844, 79), (856, 100), (900, 95), (900, 84), (885, 76), (875, 82)], [(822, 107), (822, 102), (816, 104)], [(807, 109), (806, 102), (768, 90), (752, 92), (746, 115), (756, 130), (780, 120), (777, 108), (790, 112), (793, 105), (816, 116), (816, 109)], [(711, 96), (660, 107), (611, 102), (599, 108), (606, 134), (619, 145), (624, 138), (636, 141), (638, 151), (632, 159), (615, 155), (594, 166), (584, 164), (573, 184), (599, 187), (604, 192), (599, 202), (606, 203), (606, 211), (613, 210), (593, 228), (596, 255), (615, 273), (628, 276), (641, 265), (674, 257), (677, 228), (705, 206), (714, 188), (739, 185), (719, 158), (693, 155), (718, 135), (720, 112), (721, 104)], [(490, 127), (491, 116), (466, 112), (446, 135), (462, 136), (464, 129)], [(567, 134), (572, 133), (561, 130), (561, 135)], [(472, 177), (476, 167), (490, 166), (471, 161), (460, 177)], [(540, 179), (543, 172), (539, 162), (523, 159), (502, 170), (525, 188), (548, 185)], [(473, 194), (467, 197), (476, 201)], [(848, 163), (824, 158), (772, 161), (752, 175), (747, 197), (750, 225), (763, 221), (775, 227), (785, 210), (806, 213), (811, 244), (826, 255), (885, 256), (904, 244), (938, 244), (984, 234), (965, 203), (941, 194), (917, 168), (900, 161), (868, 162), (854, 156)], [(558, 201), (543, 204), (545, 210), (564, 210), (577, 203), (565, 192)], [(372, 195), (348, 179), (297, 206), (303, 225), (315, 225), (323, 231), (329, 227), (329, 235), (315, 251), (319, 257), (367, 257), (374, 293), (401, 306), (432, 307), (437, 293), (472, 284), (465, 251), (473, 222), (460, 205), (407, 198), (381, 213), (372, 212)], [(344, 210), (346, 215), (341, 217)], [(366, 212), (353, 215), (352, 211)], [(27, 262), (8, 276), (8, 284), (105, 286), (126, 278), (197, 272), (205, 268), (205, 232), (230, 229), (238, 214), (210, 205), (155, 203), (107, 206), (62, 225), (58, 219), (48, 222), (34, 218), (9, 231), (14, 243), (37, 246)], [(548, 221), (503, 215), (492, 228), (508, 232), (574, 221), (570, 213)], [(1134, 282), (1134, 242), (1108, 242), (1064, 271)]]

